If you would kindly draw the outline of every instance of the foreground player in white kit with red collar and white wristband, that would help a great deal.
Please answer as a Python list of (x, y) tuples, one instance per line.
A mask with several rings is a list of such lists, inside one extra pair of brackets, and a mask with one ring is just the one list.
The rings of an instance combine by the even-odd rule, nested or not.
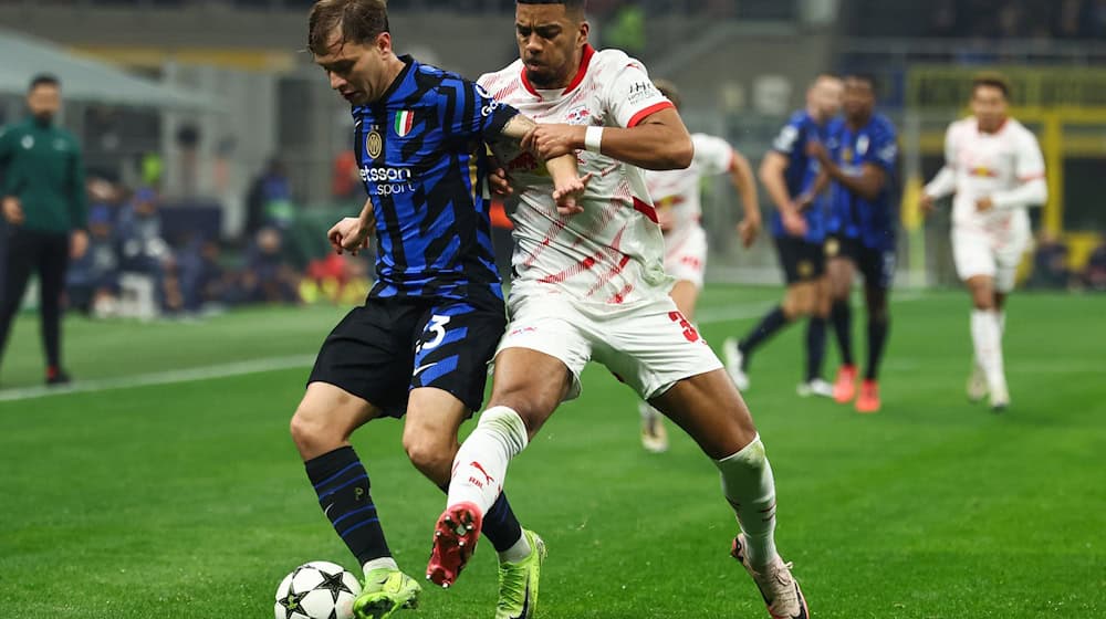
[[(691, 138), (638, 61), (588, 45), (583, 0), (520, 0), (515, 30), (521, 60), (478, 83), (538, 120), (525, 146), (542, 158), (578, 151), (581, 172), (592, 177), (581, 212), (561, 216), (542, 196), (550, 179), (531, 155), (499, 155), (521, 189), (510, 323), (490, 407), (453, 459), (427, 577), (455, 583), (508, 463), (580, 394), (580, 374), (594, 359), (699, 443), (741, 525), (731, 554), (773, 617), (805, 619), (790, 564), (775, 549), (764, 445), (721, 361), (668, 296), (664, 238), (641, 168), (686, 168)], [(536, 591), (536, 579), (528, 586)]]

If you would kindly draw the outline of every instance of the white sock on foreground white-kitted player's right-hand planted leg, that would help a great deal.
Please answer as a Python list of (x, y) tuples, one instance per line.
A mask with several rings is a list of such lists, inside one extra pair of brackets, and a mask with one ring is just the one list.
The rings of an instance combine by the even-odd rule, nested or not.
[(775, 558), (775, 481), (772, 465), (758, 434), (733, 455), (716, 460), (722, 474), (722, 492), (738, 515), (749, 542), (749, 563), (763, 567)]

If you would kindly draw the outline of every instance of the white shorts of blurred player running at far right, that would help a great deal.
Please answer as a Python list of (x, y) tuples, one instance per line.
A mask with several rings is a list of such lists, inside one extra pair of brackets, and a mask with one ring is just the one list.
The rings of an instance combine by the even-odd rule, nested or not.
[(993, 277), (994, 290), (1002, 293), (1014, 290), (1018, 265), (1027, 248), (1029, 237), (1024, 234), (952, 229), (952, 259), (960, 280)]

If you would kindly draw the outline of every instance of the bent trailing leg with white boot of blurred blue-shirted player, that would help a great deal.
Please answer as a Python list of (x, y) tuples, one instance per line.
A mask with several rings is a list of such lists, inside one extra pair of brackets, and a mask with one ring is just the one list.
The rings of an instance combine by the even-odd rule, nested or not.
[(775, 240), (776, 254), (783, 269), (787, 291), (783, 302), (769, 310), (760, 322), (740, 340), (732, 337), (722, 342), (726, 370), (742, 391), (749, 389), (749, 364), (752, 354), (795, 318), (808, 315), (813, 306), (814, 292), (803, 275), (801, 263), (803, 241), (791, 237)]

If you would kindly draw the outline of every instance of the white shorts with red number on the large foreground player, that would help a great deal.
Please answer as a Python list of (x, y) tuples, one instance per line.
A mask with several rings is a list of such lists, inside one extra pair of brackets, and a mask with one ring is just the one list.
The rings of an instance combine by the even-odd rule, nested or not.
[(591, 359), (646, 400), (685, 378), (722, 367), (667, 295), (613, 306), (577, 302), (552, 290), (536, 285), (511, 290), (510, 324), (497, 355), (507, 348), (529, 348), (560, 359), (573, 377), (565, 400), (580, 396), (580, 375)]

